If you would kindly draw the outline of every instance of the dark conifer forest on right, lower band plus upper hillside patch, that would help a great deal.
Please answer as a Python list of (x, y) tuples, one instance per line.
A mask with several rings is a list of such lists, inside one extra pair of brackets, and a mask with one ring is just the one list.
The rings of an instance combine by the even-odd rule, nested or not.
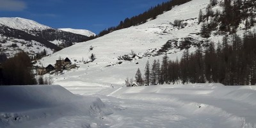
[[(219, 4), (223, 12), (212, 7)], [(139, 86), (175, 83), (222, 83), (225, 85), (256, 84), (256, 32), (248, 31), (255, 24), (256, 3), (253, 0), (211, 0), (205, 14), (200, 10), (198, 24), (200, 35), (206, 38), (205, 47), (196, 46), (195, 52), (186, 47), (180, 60), (154, 60), (145, 65), (144, 79), (138, 68), (135, 82)], [(239, 24), (244, 23), (243, 38), (236, 34)], [(223, 31), (222, 42), (209, 41), (212, 31)], [(229, 40), (228, 37), (231, 37)], [(217, 45), (216, 45), (217, 44)], [(204, 50), (203, 50), (204, 49)], [(125, 79), (131, 86), (133, 78)]]

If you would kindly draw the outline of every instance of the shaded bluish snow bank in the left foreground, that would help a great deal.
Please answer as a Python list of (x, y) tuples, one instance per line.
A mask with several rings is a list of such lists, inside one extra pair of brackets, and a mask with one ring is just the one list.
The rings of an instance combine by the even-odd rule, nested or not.
[(111, 113), (99, 98), (74, 95), (59, 85), (1, 86), (0, 101), (0, 127), (21, 127), (26, 122), (63, 116), (93, 118)]

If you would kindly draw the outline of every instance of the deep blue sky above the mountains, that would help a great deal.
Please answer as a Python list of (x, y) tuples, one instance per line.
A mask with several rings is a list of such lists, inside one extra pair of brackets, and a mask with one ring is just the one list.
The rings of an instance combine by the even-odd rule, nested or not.
[(168, 0), (0, 0), (0, 17), (22, 17), (52, 28), (99, 31)]

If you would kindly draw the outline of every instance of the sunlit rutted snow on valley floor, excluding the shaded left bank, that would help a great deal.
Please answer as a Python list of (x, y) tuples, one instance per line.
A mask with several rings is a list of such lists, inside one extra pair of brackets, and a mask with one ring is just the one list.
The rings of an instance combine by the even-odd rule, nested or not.
[(93, 116), (93, 118), (83, 115), (63, 115), (56, 118), (32, 120), (29, 122), (31, 125), (28, 123), (23, 125), (40, 128), (256, 127), (255, 86), (223, 86), (221, 84), (132, 88), (105, 86), (100, 91), (99, 86), (95, 88), (66, 86), (65, 88), (87, 98), (99, 97), (112, 112)]

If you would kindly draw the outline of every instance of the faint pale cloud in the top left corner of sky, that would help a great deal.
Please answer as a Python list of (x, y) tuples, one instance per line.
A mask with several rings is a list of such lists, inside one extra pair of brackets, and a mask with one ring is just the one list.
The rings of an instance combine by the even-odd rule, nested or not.
[(0, 0), (0, 11), (20, 12), (27, 8), (24, 1), (18, 0)]

